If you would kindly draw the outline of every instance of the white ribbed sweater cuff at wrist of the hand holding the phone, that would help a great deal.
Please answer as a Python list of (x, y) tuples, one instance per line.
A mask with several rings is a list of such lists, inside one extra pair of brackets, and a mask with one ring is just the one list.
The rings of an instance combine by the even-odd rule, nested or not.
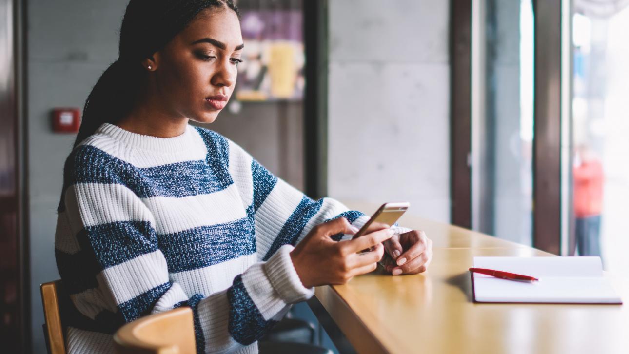
[(273, 288), (287, 304), (306, 301), (315, 294), (315, 288), (306, 288), (299, 279), (291, 260), (292, 245), (283, 245), (267, 260), (264, 267)]

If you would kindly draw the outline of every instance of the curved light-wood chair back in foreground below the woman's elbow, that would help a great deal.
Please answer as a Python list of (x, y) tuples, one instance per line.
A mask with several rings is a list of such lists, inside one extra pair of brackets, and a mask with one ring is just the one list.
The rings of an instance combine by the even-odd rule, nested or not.
[(195, 354), (192, 309), (180, 307), (145, 316), (114, 335), (117, 354)]

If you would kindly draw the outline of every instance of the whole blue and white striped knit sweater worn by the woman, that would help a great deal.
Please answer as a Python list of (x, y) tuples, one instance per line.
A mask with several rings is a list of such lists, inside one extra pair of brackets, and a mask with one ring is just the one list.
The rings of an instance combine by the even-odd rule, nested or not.
[(58, 208), (57, 267), (78, 310), (69, 352), (111, 352), (122, 324), (191, 306), (199, 352), (257, 353), (313, 295), (289, 252), (340, 216), (368, 219), (309, 199), (211, 130), (157, 138), (103, 124), (67, 158)]

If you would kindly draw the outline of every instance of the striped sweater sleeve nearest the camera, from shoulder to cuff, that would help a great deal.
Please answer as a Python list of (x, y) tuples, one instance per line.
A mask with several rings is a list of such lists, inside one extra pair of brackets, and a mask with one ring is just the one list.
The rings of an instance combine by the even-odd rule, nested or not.
[[(83, 154), (84, 155), (84, 154)], [(80, 153), (66, 164), (58, 208), (55, 255), (59, 273), (86, 329), (113, 333), (140, 316), (190, 306), (199, 352), (232, 352), (257, 341), (290, 304), (312, 296), (282, 246), (266, 262), (214, 294), (187, 294), (169, 279), (155, 219), (112, 166), (84, 167)], [(208, 296), (209, 295), (209, 296)]]

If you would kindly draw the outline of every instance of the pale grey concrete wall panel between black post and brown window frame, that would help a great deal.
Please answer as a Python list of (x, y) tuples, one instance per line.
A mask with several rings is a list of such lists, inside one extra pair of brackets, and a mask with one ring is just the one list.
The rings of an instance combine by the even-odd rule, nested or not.
[(330, 1), (330, 196), (449, 221), (448, 9)]

